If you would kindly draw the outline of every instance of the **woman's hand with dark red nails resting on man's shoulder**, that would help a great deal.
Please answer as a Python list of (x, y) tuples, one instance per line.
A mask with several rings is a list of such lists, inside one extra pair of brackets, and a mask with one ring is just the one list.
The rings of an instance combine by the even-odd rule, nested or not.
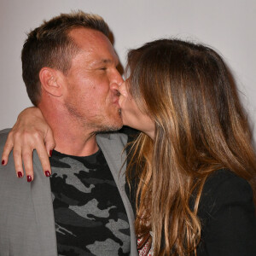
[[(49, 172), (44, 172), (45, 176), (50, 176), (49, 157), (52, 155), (53, 148), (55, 148), (55, 139), (53, 137), (53, 132), (45, 122), (40, 109), (26, 108), (20, 113), (17, 122), (9, 132), (9, 136), (4, 145), (2, 165), (6, 165), (8, 163), (9, 154), (13, 148), (15, 148), (15, 154), (13, 154), (13, 157), (15, 160), (17, 176), (18, 172), (26, 172), (26, 177), (31, 177), (29, 182), (32, 181), (32, 155), (34, 149), (38, 153), (43, 170), (48, 170)], [(25, 167), (24, 172), (23, 166)]]

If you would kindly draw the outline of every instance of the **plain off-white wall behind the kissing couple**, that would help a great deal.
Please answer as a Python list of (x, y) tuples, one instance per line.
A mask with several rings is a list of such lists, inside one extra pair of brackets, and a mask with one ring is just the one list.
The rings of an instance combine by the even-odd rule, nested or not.
[[(0, 130), (31, 106), (21, 79), (20, 50), (26, 32), (42, 20), (82, 9), (108, 22), (125, 65), (127, 49), (155, 38), (192, 39), (218, 49), (256, 121), (255, 0), (0, 0)], [(256, 127), (254, 128), (256, 138)]]

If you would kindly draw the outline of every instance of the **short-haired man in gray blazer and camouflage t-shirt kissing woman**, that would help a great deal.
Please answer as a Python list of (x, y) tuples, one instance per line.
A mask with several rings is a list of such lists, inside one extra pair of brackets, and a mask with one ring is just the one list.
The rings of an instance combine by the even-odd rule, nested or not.
[[(1, 255), (137, 255), (125, 194), (127, 138), (96, 136), (122, 127), (117, 88), (123, 79), (108, 34), (101, 17), (77, 12), (44, 22), (26, 39), (26, 90), (56, 145), (50, 179), (37, 154), (29, 183), (16, 179), (15, 167), (18, 177), (24, 173), (12, 157), (0, 167)], [(1, 151), (7, 136), (1, 132)]]

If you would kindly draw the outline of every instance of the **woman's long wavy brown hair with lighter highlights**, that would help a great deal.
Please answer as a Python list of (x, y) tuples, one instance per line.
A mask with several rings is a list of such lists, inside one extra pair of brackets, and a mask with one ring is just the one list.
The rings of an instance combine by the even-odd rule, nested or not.
[(131, 96), (155, 123), (154, 140), (141, 133), (134, 143), (127, 172), (137, 181), (137, 236), (154, 232), (154, 255), (195, 254), (207, 177), (227, 168), (255, 193), (255, 154), (236, 85), (213, 49), (177, 39), (131, 50), (127, 73)]

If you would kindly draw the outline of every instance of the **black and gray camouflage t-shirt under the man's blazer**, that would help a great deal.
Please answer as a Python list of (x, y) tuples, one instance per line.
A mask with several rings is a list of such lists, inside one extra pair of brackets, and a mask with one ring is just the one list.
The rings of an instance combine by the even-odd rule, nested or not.
[(50, 158), (59, 256), (129, 255), (130, 227), (102, 150)]

